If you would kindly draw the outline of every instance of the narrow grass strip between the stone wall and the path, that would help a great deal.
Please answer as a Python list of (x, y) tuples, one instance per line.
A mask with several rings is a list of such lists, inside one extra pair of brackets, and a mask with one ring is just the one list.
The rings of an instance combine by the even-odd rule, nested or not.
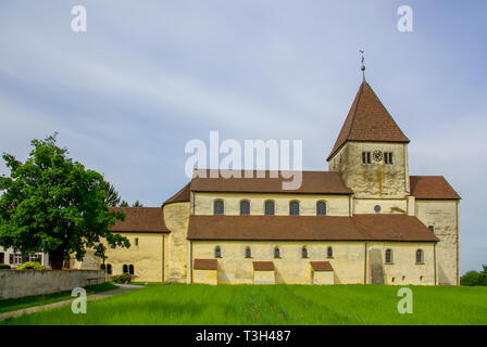
[[(115, 290), (117, 286), (112, 283), (102, 283), (96, 285), (88, 285), (85, 287), (86, 294), (101, 293), (105, 291)], [(62, 300), (73, 299), (71, 291), (53, 293), (47, 295), (26, 296), (16, 299), (8, 299), (0, 301), (0, 313), (15, 311), (27, 307), (47, 305)]]

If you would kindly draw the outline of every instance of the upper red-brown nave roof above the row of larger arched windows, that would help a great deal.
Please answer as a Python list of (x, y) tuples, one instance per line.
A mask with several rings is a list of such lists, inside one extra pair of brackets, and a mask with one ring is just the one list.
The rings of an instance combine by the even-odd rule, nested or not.
[[(283, 179), (278, 171), (260, 171), (264, 178), (258, 178), (257, 171), (252, 171), (253, 178), (246, 178), (244, 170), (213, 170), (217, 178), (210, 177), (210, 170), (197, 170), (198, 176), (191, 180), (190, 190), (196, 192), (246, 192), (246, 193), (308, 193), (308, 194), (351, 194), (338, 172), (327, 171), (301, 171), (302, 184), (297, 190), (283, 190)], [(225, 178), (229, 174), (240, 175), (240, 178)], [(277, 172), (278, 178), (271, 178), (271, 172)], [(205, 178), (201, 177), (205, 175)]]

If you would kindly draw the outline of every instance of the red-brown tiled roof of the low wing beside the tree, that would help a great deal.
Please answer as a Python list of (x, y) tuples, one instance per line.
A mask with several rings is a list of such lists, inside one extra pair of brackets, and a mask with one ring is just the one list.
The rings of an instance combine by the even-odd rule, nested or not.
[(111, 207), (125, 214), (125, 220), (117, 220), (111, 231), (126, 232), (170, 232), (164, 224), (161, 207)]

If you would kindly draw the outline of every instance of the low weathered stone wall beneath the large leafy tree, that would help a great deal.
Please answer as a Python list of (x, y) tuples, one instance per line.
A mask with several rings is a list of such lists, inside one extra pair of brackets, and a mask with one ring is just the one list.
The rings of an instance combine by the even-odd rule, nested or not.
[(72, 291), (104, 282), (99, 270), (0, 270), (0, 300)]

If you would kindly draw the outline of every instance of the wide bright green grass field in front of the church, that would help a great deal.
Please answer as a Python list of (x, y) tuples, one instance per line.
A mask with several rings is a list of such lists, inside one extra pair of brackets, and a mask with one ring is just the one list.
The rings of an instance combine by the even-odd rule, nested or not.
[(413, 313), (400, 314), (398, 286), (149, 284), (0, 324), (487, 324), (487, 287), (410, 286)]

